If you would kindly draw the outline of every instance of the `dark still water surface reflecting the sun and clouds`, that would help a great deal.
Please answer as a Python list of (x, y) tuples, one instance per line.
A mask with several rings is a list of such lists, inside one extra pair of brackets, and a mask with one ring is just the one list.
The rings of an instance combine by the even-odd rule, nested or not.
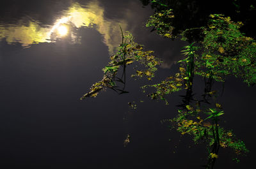
[[(170, 132), (161, 120), (175, 116), (170, 105), (151, 101), (128, 79), (129, 94), (106, 91), (80, 101), (101, 80), (102, 68), (121, 42), (120, 27), (163, 59), (157, 82), (175, 73), (187, 43), (150, 33), (153, 14), (129, 1), (1, 1), (0, 168), (200, 168), (205, 148)], [(172, 66), (173, 65), (173, 66)], [(128, 69), (131, 74), (132, 68)], [(202, 79), (198, 79), (198, 82)], [(234, 85), (234, 82), (236, 82)], [(221, 84), (215, 86), (221, 89)], [(195, 91), (203, 86), (195, 83)], [(225, 121), (250, 154), (235, 164), (221, 151), (216, 168), (244, 168), (255, 158), (255, 87), (228, 78), (220, 98)], [(136, 111), (131, 101), (144, 100)], [(131, 143), (124, 147), (127, 134)], [(170, 140), (169, 140), (170, 139)], [(191, 148), (188, 148), (191, 146)]]

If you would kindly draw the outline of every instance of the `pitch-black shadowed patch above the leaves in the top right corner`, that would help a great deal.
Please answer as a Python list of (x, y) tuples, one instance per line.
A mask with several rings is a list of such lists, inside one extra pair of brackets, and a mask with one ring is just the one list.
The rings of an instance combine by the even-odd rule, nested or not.
[[(158, 3), (150, 3), (150, 0), (140, 0), (143, 5), (150, 5), (157, 12), (171, 8), (175, 13), (172, 20), (173, 35), (183, 33), (186, 29), (190, 29), (187, 35), (191, 36), (189, 43), (197, 41), (200, 38), (200, 30), (198, 27), (205, 26), (209, 20), (211, 13), (223, 13), (231, 17), (233, 20), (239, 20), (244, 24), (241, 28), (243, 33), (255, 38), (254, 22), (256, 16), (255, 0), (161, 0), (159, 3), (166, 4), (168, 7), (161, 6)], [(227, 10), (228, 6), (228, 10)], [(239, 6), (237, 8), (237, 6)], [(188, 37), (188, 36), (187, 36)]]

